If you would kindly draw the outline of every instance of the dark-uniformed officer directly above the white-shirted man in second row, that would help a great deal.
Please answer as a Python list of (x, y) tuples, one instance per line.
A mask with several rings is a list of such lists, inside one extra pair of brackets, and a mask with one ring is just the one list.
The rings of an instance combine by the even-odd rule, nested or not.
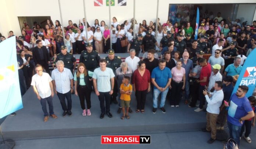
[(136, 52), (135, 56), (138, 57), (139, 51), (141, 50), (142, 39), (142, 34), (138, 34), (137, 38), (135, 37), (131, 41), (129, 41), (129, 44), (127, 46), (127, 52), (129, 53), (131, 49), (134, 49)]

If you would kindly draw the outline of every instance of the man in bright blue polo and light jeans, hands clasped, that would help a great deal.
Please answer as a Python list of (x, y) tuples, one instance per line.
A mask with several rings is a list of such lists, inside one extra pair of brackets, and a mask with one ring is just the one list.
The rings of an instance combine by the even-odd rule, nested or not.
[(154, 68), (151, 74), (151, 81), (154, 85), (153, 89), (153, 113), (156, 113), (157, 109), (157, 98), (161, 94), (160, 109), (163, 113), (166, 113), (164, 109), (164, 104), (166, 100), (166, 95), (168, 92), (168, 87), (171, 83), (171, 70), (166, 67), (166, 61), (161, 59), (159, 61), (159, 67)]

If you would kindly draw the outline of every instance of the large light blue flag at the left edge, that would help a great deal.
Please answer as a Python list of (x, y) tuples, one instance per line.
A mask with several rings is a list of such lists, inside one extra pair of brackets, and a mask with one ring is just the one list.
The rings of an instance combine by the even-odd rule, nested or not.
[[(21, 108), (15, 36), (0, 43), (0, 119)], [(4, 53), (4, 54), (3, 54)]]

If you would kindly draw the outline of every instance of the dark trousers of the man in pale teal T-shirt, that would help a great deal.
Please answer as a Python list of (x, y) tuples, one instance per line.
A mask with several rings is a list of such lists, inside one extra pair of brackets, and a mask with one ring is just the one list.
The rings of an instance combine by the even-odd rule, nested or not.
[[(100, 101), (100, 110), (102, 113), (110, 112), (110, 94), (109, 94), (109, 92), (99, 92), (100, 95), (98, 97), (99, 97), (99, 101)], [(105, 102), (106, 102), (106, 106), (105, 106)]]

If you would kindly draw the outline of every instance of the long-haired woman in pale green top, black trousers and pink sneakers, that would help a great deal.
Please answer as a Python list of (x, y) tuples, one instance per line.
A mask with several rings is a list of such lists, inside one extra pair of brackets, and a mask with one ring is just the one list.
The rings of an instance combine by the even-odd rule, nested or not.
[[(92, 77), (93, 72), (86, 70), (86, 67), (83, 63), (78, 64), (77, 70), (78, 71), (74, 75), (75, 95), (79, 96), (80, 105), (81, 105), (81, 108), (83, 109), (82, 115), (86, 116), (86, 113), (87, 113), (87, 115), (90, 116), (91, 115), (90, 95), (92, 92), (92, 79), (89, 79), (89, 77)], [(85, 99), (86, 99), (87, 111), (85, 109)]]

